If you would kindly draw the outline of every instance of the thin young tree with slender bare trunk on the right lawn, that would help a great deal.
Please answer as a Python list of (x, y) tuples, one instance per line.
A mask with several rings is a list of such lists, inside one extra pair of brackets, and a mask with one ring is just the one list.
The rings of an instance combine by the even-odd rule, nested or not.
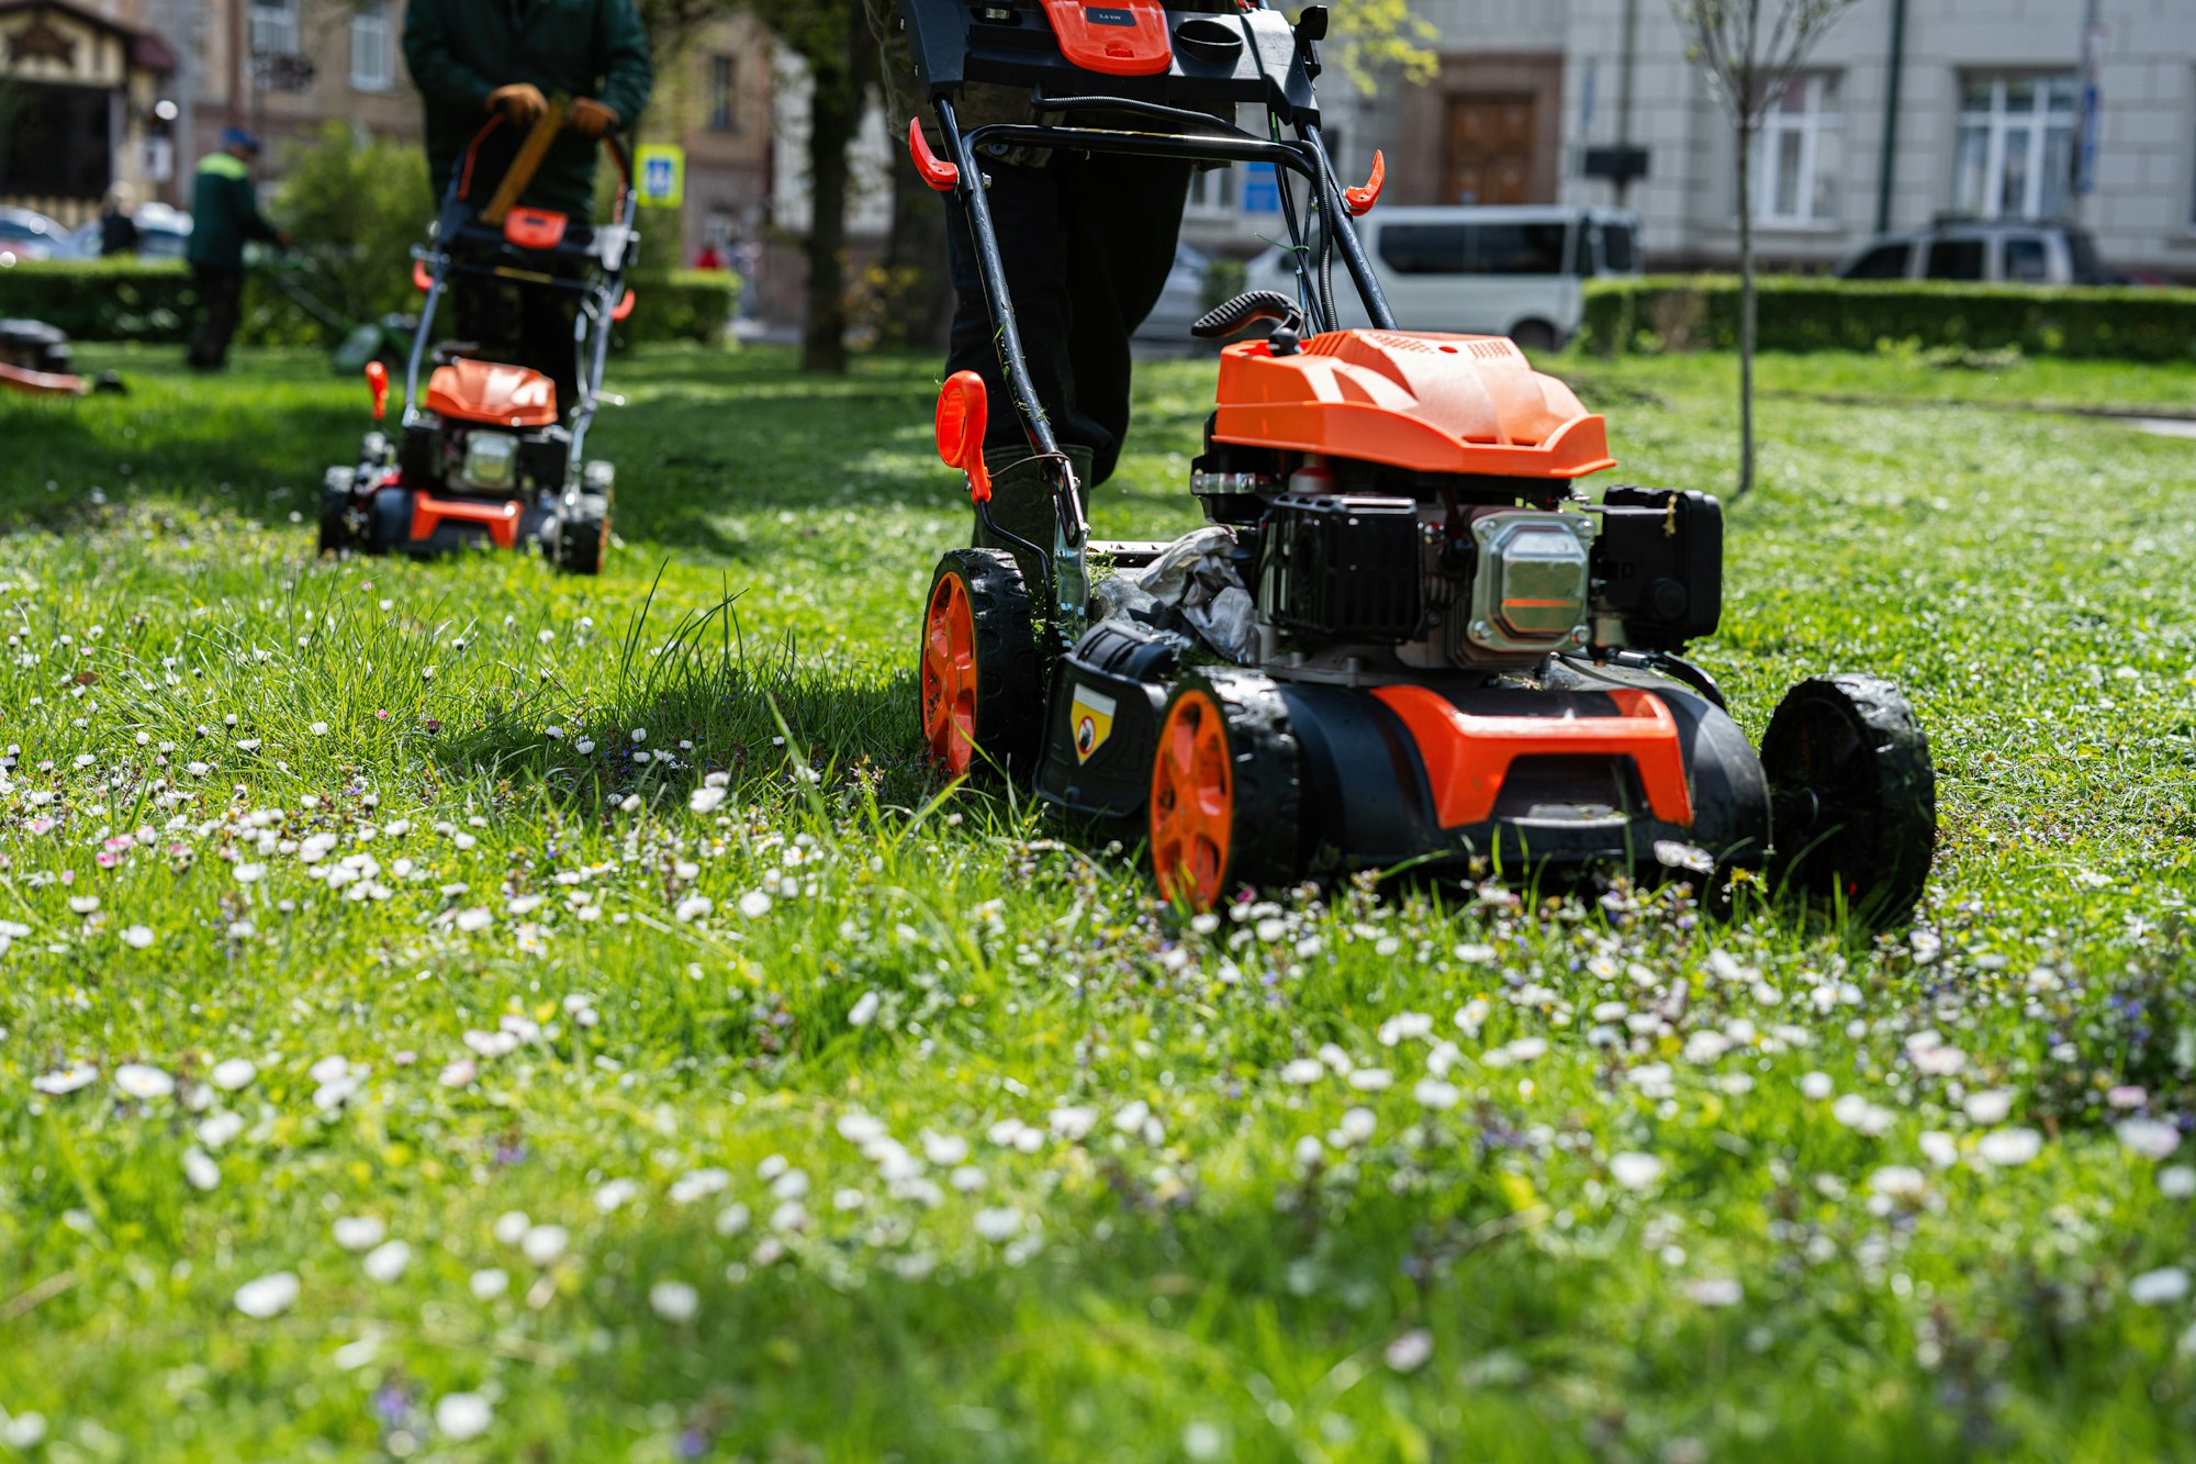
[[(1816, 42), (1856, 0), (1669, 0), (1687, 57), (1739, 141), (1739, 486), (1755, 486), (1755, 134)], [(1766, 18), (1763, 11), (1774, 11)], [(1763, 24), (1768, 22), (1768, 24)]]

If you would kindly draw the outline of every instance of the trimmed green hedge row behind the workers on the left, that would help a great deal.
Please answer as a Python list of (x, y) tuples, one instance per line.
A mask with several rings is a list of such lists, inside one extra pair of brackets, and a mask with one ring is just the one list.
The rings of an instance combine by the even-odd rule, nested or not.
[[(740, 277), (676, 270), (632, 284), (632, 314), (617, 339), (720, 343), (740, 306)], [(198, 288), (182, 264), (70, 259), (0, 268), (0, 317), (59, 325), (77, 341), (180, 343), (198, 319)], [(314, 319), (266, 273), (244, 286), (242, 345), (334, 345), (340, 332)]]

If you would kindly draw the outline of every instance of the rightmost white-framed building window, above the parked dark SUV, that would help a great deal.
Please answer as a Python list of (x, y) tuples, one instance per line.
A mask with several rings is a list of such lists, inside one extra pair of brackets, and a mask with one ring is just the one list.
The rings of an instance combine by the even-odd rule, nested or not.
[(2058, 218), (2073, 180), (2075, 73), (1968, 77), (1952, 202), (1979, 218)]

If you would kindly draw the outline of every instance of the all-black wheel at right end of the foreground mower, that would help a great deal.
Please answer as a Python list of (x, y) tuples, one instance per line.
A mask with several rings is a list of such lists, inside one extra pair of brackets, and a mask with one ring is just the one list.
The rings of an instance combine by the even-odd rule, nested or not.
[(1777, 888), (1904, 923), (1937, 851), (1937, 769), (1913, 706), (1882, 677), (1801, 681), (1761, 739)]

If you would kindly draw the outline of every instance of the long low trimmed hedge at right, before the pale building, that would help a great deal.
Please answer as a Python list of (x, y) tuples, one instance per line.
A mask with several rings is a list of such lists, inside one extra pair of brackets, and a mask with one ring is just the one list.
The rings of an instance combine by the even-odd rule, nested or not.
[[(1759, 281), (1766, 352), (2020, 347), (2031, 356), (2196, 361), (2196, 290), (1845, 281), (1770, 275)], [(1730, 275), (1647, 275), (1586, 286), (1586, 350), (1737, 350), (1739, 281)]]

